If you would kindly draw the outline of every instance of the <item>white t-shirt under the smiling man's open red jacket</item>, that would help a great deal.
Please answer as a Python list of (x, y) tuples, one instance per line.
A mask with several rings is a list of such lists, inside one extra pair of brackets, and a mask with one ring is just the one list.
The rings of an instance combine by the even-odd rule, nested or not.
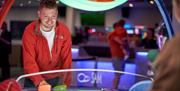
[(42, 28), (40, 28), (41, 32), (42, 32), (42, 35), (46, 38), (47, 42), (48, 42), (48, 46), (49, 46), (49, 51), (50, 51), (50, 54), (52, 56), (52, 47), (53, 47), (53, 42), (54, 42), (54, 36), (55, 36), (55, 29), (52, 28), (51, 31), (43, 31)]

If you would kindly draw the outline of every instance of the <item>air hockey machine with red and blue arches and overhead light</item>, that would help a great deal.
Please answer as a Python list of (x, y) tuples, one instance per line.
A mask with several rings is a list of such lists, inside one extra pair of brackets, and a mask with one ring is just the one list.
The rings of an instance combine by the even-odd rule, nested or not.
[[(82, 9), (87, 11), (103, 11), (109, 10), (114, 7), (117, 7), (128, 0), (60, 0), (60, 2), (64, 3), (67, 6)], [(11, 5), (13, 4), (14, 0), (5, 0), (4, 6), (1, 7), (0, 11), (0, 26), (2, 21), (4, 20), (7, 12), (9, 11)], [(162, 16), (165, 21), (165, 25), (167, 27), (168, 36), (171, 38), (174, 33), (172, 30), (172, 26), (170, 23), (170, 18), (167, 14), (167, 11), (163, 5), (163, 0), (155, 0)], [(101, 6), (101, 7), (100, 7)], [(50, 89), (51, 87), (45, 87), (43, 91), (112, 91), (112, 86), (110, 86), (110, 82), (112, 83), (113, 74), (123, 74), (122, 79), (131, 78), (129, 80), (135, 80), (135, 77), (141, 77), (145, 80), (152, 81), (152, 78), (149, 78), (144, 75), (130, 73), (130, 72), (122, 72), (122, 71), (115, 71), (115, 70), (105, 70), (105, 69), (64, 69), (64, 70), (51, 70), (51, 71), (44, 71), (32, 74), (25, 74), (16, 79), (16, 83), (19, 83), (21, 86), (21, 90), (23, 91), (36, 91), (35, 88), (24, 88), (23, 87), (23, 79), (29, 76), (41, 75), (41, 74), (50, 74), (50, 73), (63, 73), (63, 72), (72, 72), (73, 73), (73, 81), (72, 86), (67, 87), (66, 85), (57, 85)], [(133, 77), (131, 77), (133, 76)], [(15, 82), (13, 81), (6, 81), (6, 85), (0, 84), (3, 90), (6, 91), (21, 91), (18, 90), (17, 87), (13, 89)], [(126, 88), (125, 91), (128, 91), (129, 88), (134, 87), (134, 83), (127, 83), (129, 81), (121, 82), (122, 88)], [(125, 84), (125, 85), (122, 85)], [(128, 84), (128, 85), (127, 85)], [(129, 85), (130, 84), (130, 85)], [(129, 86), (129, 87), (128, 87)], [(148, 86), (149, 87), (149, 86)], [(1, 89), (1, 88), (0, 88)], [(49, 89), (49, 90), (48, 90)], [(132, 89), (132, 88), (131, 88)], [(117, 89), (116, 89), (117, 90)], [(121, 91), (121, 90), (120, 90)], [(124, 91), (124, 90), (123, 90)], [(130, 91), (130, 90), (129, 90)]]

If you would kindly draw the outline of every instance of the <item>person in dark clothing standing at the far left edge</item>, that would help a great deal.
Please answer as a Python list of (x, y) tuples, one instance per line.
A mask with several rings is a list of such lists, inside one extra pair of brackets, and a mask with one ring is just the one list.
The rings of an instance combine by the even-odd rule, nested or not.
[(4, 22), (0, 29), (0, 68), (2, 80), (10, 78), (9, 55), (11, 54), (11, 32), (7, 30), (7, 24)]

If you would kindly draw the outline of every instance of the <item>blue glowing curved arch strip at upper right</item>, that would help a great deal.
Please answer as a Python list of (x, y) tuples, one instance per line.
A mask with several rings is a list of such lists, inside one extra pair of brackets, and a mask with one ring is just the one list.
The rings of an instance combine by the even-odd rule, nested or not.
[(169, 17), (169, 14), (167, 13), (167, 10), (165, 8), (165, 5), (162, 0), (154, 0), (159, 8), (159, 11), (161, 12), (161, 15), (163, 17), (163, 20), (165, 22), (169, 38), (172, 38), (174, 36), (174, 31), (171, 24), (171, 19)]

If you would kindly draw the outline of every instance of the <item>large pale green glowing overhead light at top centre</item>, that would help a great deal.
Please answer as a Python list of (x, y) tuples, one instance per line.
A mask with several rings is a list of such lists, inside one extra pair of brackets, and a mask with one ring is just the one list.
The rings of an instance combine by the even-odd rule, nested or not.
[(59, 0), (70, 7), (86, 11), (104, 11), (115, 8), (128, 0), (114, 0), (112, 2), (92, 2), (89, 0)]

